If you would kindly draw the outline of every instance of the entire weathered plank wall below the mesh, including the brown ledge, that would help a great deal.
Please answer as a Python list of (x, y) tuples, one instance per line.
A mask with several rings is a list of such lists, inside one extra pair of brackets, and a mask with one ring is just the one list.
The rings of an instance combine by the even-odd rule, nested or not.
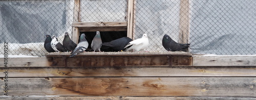
[(0, 99), (256, 99), (255, 56), (68, 56), (8, 58)]

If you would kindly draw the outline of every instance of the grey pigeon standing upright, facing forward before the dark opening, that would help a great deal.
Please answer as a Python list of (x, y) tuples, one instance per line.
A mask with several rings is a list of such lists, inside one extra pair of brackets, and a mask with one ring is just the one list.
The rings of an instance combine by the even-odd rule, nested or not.
[(96, 50), (98, 50), (100, 52), (101, 44), (102, 44), (102, 41), (101, 41), (101, 38), (100, 38), (100, 32), (96, 31), (96, 35), (93, 38), (93, 41), (92, 41), (92, 44), (91, 44), (92, 50), (94, 52)]

